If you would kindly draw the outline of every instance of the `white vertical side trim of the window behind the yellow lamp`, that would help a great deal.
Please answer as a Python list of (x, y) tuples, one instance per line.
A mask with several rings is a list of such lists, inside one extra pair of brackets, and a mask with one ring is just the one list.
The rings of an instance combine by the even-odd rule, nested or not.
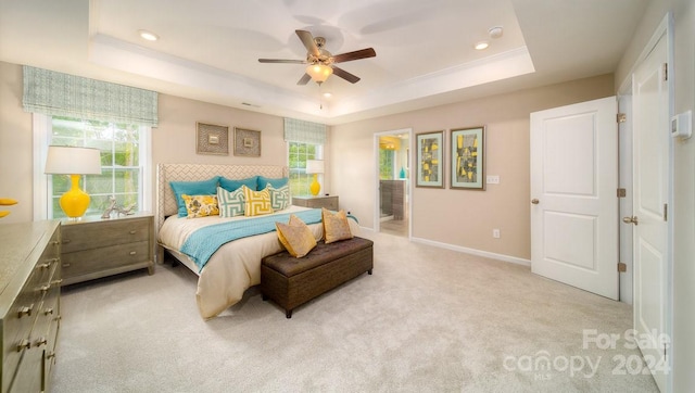
[[(53, 117), (40, 113), (34, 113), (34, 220), (52, 219), (51, 212), (50, 175), (43, 173), (48, 147), (52, 131)], [(152, 211), (152, 132), (150, 126), (141, 126), (139, 152), (140, 152), (140, 176), (141, 176), (141, 212)], [(112, 168), (111, 166), (109, 166)]]

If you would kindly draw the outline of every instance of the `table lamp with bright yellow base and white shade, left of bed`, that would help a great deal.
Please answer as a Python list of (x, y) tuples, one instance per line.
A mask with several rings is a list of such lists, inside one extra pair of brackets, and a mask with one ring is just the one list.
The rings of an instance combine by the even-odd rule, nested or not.
[(61, 196), (60, 204), (67, 217), (77, 219), (89, 207), (89, 194), (79, 189), (79, 177), (101, 175), (99, 149), (50, 145), (45, 173), (70, 175), (71, 189)]

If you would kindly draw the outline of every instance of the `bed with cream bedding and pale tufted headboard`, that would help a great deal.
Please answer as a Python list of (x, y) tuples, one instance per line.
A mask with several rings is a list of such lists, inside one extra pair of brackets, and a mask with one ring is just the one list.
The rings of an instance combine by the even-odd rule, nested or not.
[[(201, 268), (200, 264), (187, 254), (181, 248), (191, 233), (213, 225), (226, 221), (237, 226), (253, 226), (254, 220), (263, 218), (265, 221), (286, 221), (289, 214), (312, 215), (316, 212), (306, 207), (289, 206), (286, 210), (260, 217), (231, 217), (219, 216), (186, 218), (178, 217), (178, 203), (170, 181), (202, 181), (214, 176), (223, 176), (227, 179), (245, 179), (252, 176), (264, 176), (276, 179), (288, 177), (288, 168), (271, 165), (204, 165), (204, 164), (159, 164), (156, 172), (157, 193), (157, 263), (164, 261), (164, 250), (179, 261), (184, 266), (198, 275), (198, 289), (195, 299), (201, 317), (210, 319), (217, 316), (229, 306), (239, 302), (243, 293), (251, 287), (261, 283), (261, 259), (279, 253), (283, 250), (275, 231), (242, 237), (229, 241), (218, 250), (212, 251), (212, 255)], [(359, 230), (355, 220), (350, 219), (350, 229), (353, 234)], [(320, 223), (307, 223), (314, 237), (318, 240), (323, 237)], [(257, 221), (256, 221), (257, 225)], [(210, 228), (206, 228), (210, 230)]]

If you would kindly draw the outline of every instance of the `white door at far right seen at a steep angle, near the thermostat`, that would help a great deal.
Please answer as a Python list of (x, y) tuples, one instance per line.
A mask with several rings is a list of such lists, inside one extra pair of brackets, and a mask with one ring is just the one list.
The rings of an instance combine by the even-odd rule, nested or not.
[[(666, 35), (632, 76), (634, 329), (646, 364), (666, 391), (668, 315), (669, 87)], [(632, 224), (630, 224), (632, 221)], [(626, 224), (623, 224), (626, 225)]]

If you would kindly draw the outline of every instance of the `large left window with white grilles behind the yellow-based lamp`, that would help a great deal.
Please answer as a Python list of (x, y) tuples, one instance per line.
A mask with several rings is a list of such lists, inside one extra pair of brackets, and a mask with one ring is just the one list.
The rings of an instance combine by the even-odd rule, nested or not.
[[(149, 181), (149, 130), (148, 126), (116, 124), (110, 122), (79, 119), (63, 116), (46, 116), (35, 114), (35, 124), (45, 127), (35, 130), (42, 149), (48, 145), (75, 145), (97, 148), (101, 151), (101, 175), (81, 177), (80, 188), (91, 198), (86, 215), (101, 215), (110, 205), (110, 199), (116, 199), (118, 206), (132, 208), (134, 212), (151, 208), (150, 198), (146, 192)], [(38, 174), (46, 179), (43, 196), (45, 217), (63, 218), (65, 214), (60, 207), (59, 199), (70, 188), (67, 176), (43, 175), (43, 162), (39, 164)], [(41, 187), (39, 187), (39, 190)]]

